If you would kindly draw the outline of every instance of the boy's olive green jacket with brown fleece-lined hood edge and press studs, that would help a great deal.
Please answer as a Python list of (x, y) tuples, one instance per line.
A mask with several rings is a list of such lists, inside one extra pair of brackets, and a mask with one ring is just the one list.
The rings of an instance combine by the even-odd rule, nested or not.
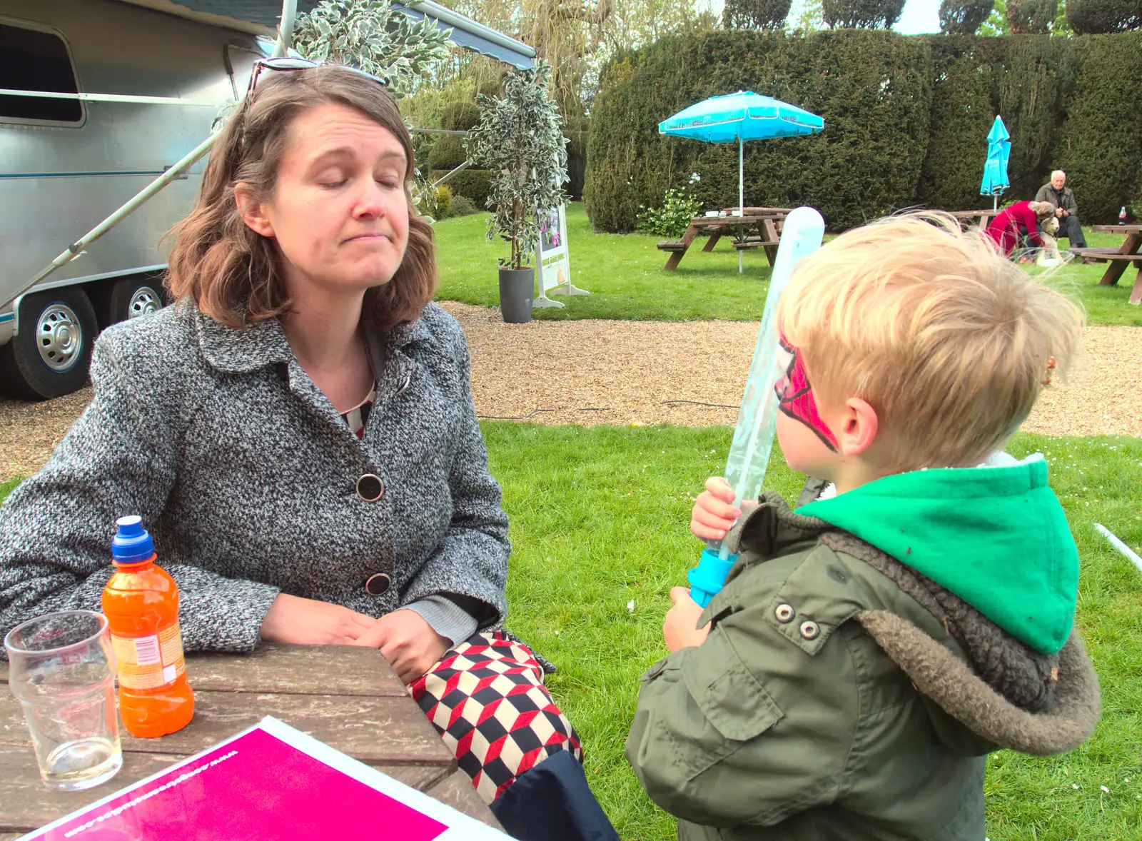
[(679, 839), (981, 841), (989, 751), (1094, 729), (1077, 634), (1038, 654), (775, 494), (727, 539), (709, 636), (643, 675), (627, 740)]

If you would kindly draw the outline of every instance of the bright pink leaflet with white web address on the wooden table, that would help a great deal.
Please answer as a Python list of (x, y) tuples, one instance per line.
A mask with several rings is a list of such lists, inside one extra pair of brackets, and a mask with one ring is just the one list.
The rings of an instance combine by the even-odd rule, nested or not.
[[(231, 753), (233, 755), (227, 755)], [(184, 775), (193, 776), (175, 782)], [(169, 787), (111, 815), (163, 785)], [(100, 816), (106, 817), (98, 822)], [(88, 824), (91, 825), (88, 827)], [(265, 730), (252, 730), (188, 766), (85, 811), (40, 838), (53, 841), (299, 838), (373, 841), (384, 836), (432, 841), (447, 828)]]

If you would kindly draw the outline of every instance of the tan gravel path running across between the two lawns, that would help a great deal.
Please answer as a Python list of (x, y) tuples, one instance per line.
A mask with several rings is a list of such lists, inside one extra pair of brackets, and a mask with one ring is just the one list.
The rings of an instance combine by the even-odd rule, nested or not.
[[(468, 335), (477, 411), (544, 424), (733, 424), (758, 329), (737, 321), (505, 325), (494, 311), (444, 307)], [(1071, 383), (1052, 386), (1023, 428), (1142, 436), (1142, 328), (1088, 327), (1083, 349)], [(0, 481), (37, 471), (90, 399), (90, 389), (42, 403), (0, 398)]]

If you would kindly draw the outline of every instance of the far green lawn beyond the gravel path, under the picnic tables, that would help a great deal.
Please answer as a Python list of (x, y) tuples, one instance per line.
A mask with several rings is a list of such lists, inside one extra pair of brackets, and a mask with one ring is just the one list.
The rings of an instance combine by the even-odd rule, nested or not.
[[(536, 319), (624, 319), (628, 321), (756, 321), (769, 289), (770, 264), (761, 249), (746, 251), (738, 274), (738, 253), (723, 239), (710, 254), (692, 246), (673, 272), (664, 272), (667, 254), (659, 237), (595, 233), (581, 202), (568, 206), (571, 282), (590, 296), (554, 301), (564, 310), (536, 310)], [(507, 243), (484, 239), (486, 216), (476, 214), (436, 223), (441, 286), (439, 299), (498, 306), (498, 257)], [(1092, 246), (1118, 246), (1115, 234), (1088, 237)], [(1054, 283), (1081, 301), (1091, 323), (1142, 326), (1142, 307), (1127, 304), (1134, 269), (1117, 287), (1100, 287), (1105, 264), (1072, 263), (1054, 273)]]

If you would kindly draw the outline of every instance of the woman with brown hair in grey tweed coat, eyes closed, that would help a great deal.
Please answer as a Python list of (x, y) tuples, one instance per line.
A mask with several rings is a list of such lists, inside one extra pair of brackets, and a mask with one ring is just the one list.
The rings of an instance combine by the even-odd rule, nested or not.
[(188, 650), (378, 648), (509, 832), (617, 838), (500, 630), (508, 522), (412, 173), (379, 80), (256, 66), (174, 232), (177, 303), (100, 336), (91, 405), (0, 508), (0, 633), (98, 610), (139, 514)]

